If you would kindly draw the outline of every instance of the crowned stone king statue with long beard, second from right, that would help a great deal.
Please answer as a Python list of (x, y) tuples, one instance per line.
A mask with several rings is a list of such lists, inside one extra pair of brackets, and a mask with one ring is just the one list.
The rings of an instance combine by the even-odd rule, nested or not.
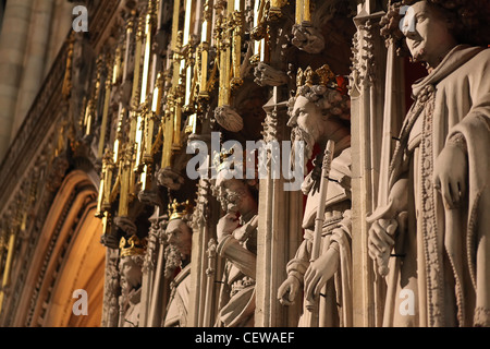
[[(278, 290), (283, 305), (291, 305), (304, 289), (305, 299), (320, 299), (319, 326), (352, 325), (351, 308), (351, 131), (348, 97), (342, 94), (336, 80), (313, 84), (318, 73), (331, 73), (324, 65), (314, 73), (309, 68), (298, 72), (296, 96), (289, 101), (289, 125), (293, 141), (306, 143), (306, 158), (313, 155), (314, 145), (323, 149), (329, 140), (334, 144), (326, 201), (320, 256), (310, 263), (316, 214), (319, 206), (319, 166), (323, 152), (315, 160), (315, 169), (307, 174), (302, 191), (307, 195), (303, 228), (305, 240), (296, 255), (287, 263), (287, 278)], [(304, 83), (303, 76), (307, 82)], [(324, 76), (324, 75), (323, 75)], [(332, 75), (330, 75), (332, 77)], [(341, 80), (340, 80), (341, 81)], [(326, 291), (323, 290), (326, 287)], [(299, 326), (310, 326), (305, 321)]]

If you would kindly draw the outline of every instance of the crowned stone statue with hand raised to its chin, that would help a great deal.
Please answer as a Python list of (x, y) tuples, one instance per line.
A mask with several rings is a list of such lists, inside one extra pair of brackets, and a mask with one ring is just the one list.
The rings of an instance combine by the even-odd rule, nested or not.
[(235, 174), (243, 168), (233, 165), (226, 167), (224, 164), (226, 160), (218, 166), (212, 189), (213, 195), (226, 213), (217, 226), (217, 253), (226, 261), (217, 326), (252, 327), (255, 312), (258, 214), (257, 201), (250, 190), (256, 180), (237, 179), (238, 176)]

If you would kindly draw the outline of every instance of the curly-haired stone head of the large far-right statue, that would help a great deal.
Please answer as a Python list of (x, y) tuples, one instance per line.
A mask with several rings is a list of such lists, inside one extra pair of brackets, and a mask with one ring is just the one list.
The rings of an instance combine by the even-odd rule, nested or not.
[(457, 44), (487, 46), (490, 10), (486, 1), (403, 0), (381, 19), (381, 35), (400, 56), (432, 62)]

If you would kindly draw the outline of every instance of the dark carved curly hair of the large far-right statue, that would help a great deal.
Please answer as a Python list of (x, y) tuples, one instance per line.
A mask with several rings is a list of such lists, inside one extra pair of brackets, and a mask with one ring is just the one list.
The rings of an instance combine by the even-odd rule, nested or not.
[[(413, 5), (421, 0), (393, 1), (381, 17), (381, 35), (388, 40), (393, 39), (400, 56), (409, 56), (405, 44), (405, 36), (400, 31), (399, 23), (402, 20), (400, 9), (403, 5)], [(487, 47), (490, 37), (490, 9), (487, 0), (427, 0), (448, 19), (450, 31), (460, 44)]]

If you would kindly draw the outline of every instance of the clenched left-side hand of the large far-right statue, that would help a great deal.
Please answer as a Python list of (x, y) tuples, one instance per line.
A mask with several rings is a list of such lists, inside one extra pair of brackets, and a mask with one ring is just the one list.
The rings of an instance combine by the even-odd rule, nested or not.
[(375, 220), (369, 229), (368, 252), (369, 256), (377, 261), (381, 276), (388, 275), (388, 262), (391, 249), (394, 245), (393, 234), (399, 227), (395, 219)]

